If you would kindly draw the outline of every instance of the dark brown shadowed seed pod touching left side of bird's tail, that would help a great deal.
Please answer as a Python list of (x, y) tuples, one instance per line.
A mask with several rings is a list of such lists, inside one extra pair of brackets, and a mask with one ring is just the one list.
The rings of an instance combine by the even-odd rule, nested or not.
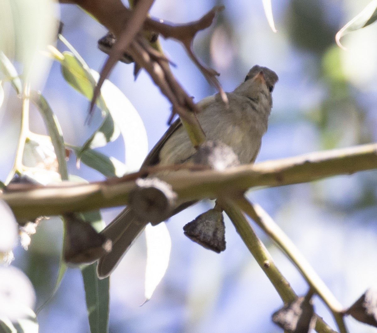
[(73, 264), (94, 262), (111, 251), (112, 242), (97, 233), (87, 222), (75, 214), (64, 215), (66, 233), (63, 240), (64, 261)]

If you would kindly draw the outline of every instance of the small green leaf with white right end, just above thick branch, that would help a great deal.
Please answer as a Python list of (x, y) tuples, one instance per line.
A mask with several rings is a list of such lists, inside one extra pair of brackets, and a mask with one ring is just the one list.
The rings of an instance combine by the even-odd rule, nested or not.
[[(73, 149), (75, 154), (81, 152), (81, 147), (66, 145)], [(93, 149), (86, 149), (81, 153), (81, 162), (102, 173), (105, 177), (121, 177), (126, 173), (126, 166), (121, 161), (113, 157), (107, 157), (103, 153)]]

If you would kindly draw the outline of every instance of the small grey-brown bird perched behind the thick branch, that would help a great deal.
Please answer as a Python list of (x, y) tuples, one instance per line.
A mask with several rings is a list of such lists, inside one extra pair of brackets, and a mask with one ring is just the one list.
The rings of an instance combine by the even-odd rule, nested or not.
[[(254, 66), (233, 92), (228, 92), (226, 106), (219, 94), (206, 97), (198, 103), (201, 112), (198, 121), (207, 140), (221, 141), (230, 146), (241, 164), (253, 163), (267, 130), (272, 108), (271, 93), (278, 77), (267, 67)], [(181, 121), (176, 120), (153, 147), (143, 167), (187, 163), (195, 153)], [(172, 215), (194, 202), (183, 203)], [(112, 251), (98, 261), (100, 278), (109, 276), (133, 241), (144, 230), (146, 222), (138, 221), (135, 212), (126, 207), (101, 233), (112, 240)]]

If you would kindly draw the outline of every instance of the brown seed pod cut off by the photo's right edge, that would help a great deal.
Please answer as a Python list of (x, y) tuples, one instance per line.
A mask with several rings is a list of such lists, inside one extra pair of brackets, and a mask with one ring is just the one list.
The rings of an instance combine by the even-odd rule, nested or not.
[(360, 322), (377, 327), (377, 290), (366, 290), (345, 313)]

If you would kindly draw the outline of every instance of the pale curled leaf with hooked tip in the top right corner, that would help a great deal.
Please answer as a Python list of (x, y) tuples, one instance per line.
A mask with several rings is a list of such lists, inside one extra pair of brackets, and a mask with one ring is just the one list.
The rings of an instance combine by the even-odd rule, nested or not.
[(352, 18), (342, 29), (335, 35), (337, 45), (346, 49), (341, 43), (340, 38), (352, 31), (364, 28), (377, 20), (377, 0), (372, 0), (358, 15)]

